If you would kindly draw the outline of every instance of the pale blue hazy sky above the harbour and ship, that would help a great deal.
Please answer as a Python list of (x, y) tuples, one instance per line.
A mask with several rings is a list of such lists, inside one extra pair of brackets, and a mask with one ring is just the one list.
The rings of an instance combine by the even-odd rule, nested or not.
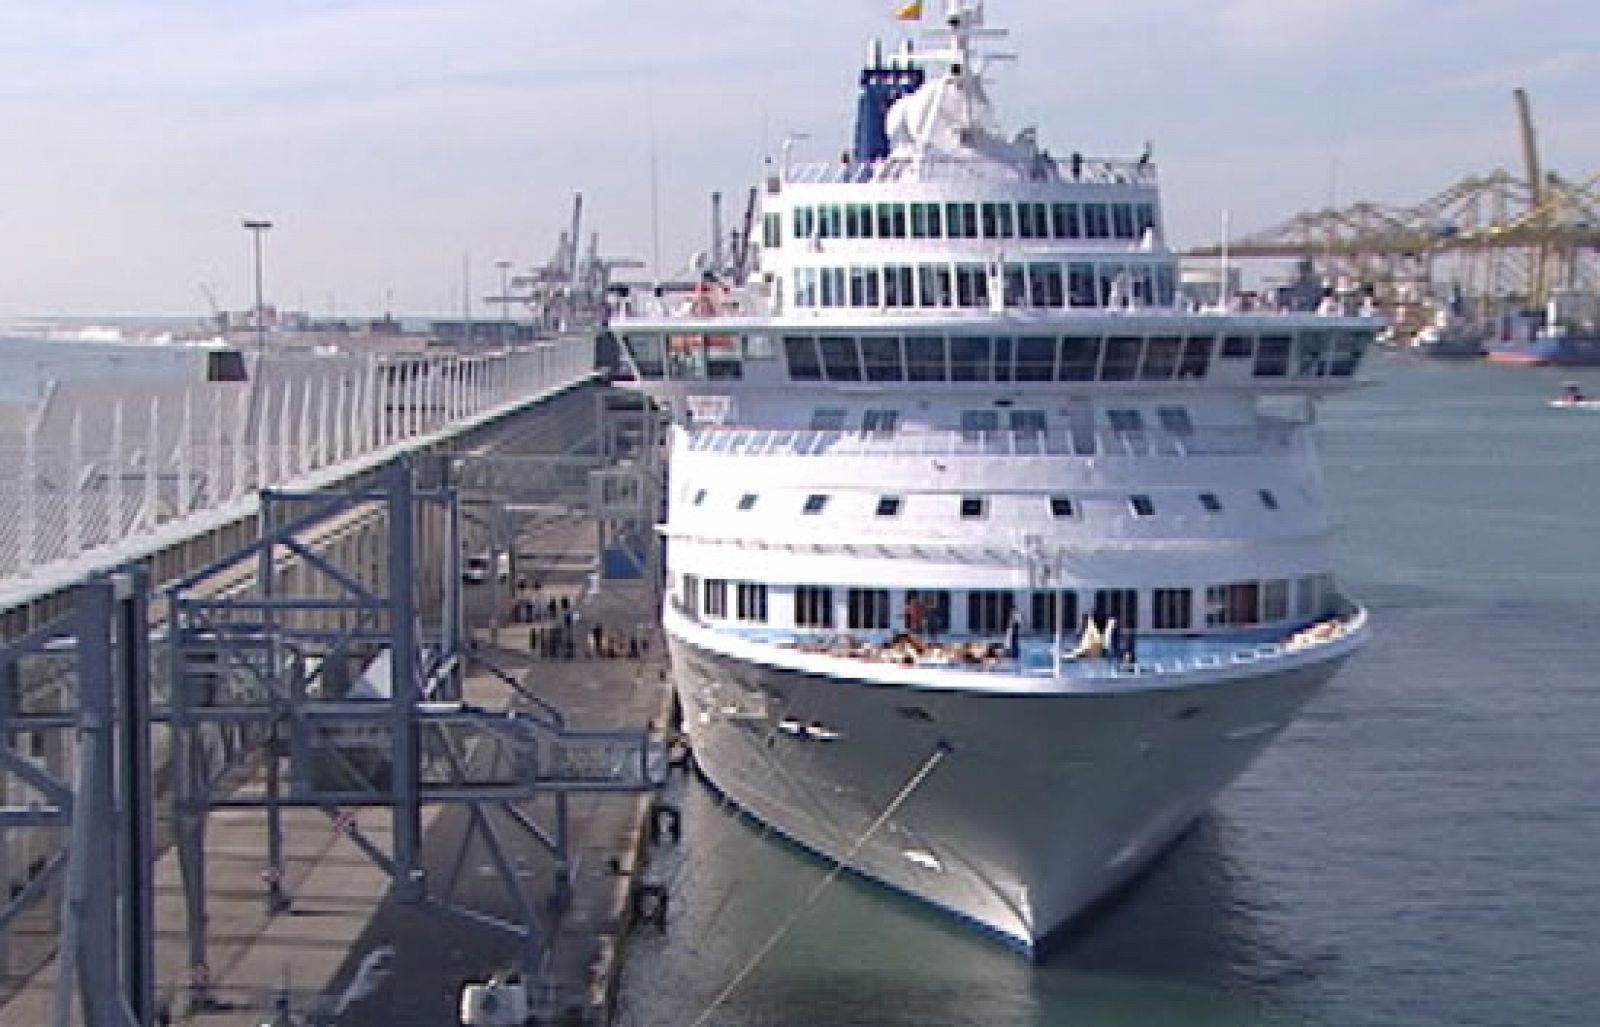
[[(0, 0), (0, 318), (442, 314), (584, 238), (674, 275), (762, 158), (848, 146), (896, 0)], [(928, 0), (930, 11), (942, 0)], [(1010, 130), (1154, 142), (1168, 238), (1418, 203), (1542, 163), (1600, 171), (1589, 0), (990, 0)]]

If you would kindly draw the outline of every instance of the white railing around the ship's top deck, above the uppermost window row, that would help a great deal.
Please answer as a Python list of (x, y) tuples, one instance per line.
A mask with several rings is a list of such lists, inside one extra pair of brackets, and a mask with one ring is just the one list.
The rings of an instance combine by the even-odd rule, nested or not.
[(1070, 157), (1056, 160), (1038, 154), (1016, 163), (997, 160), (885, 158), (803, 162), (784, 168), (787, 186), (880, 186), (899, 182), (994, 181), (1010, 173), (1018, 181), (1085, 182), (1090, 186), (1155, 186), (1155, 165), (1147, 160), (1106, 160)]

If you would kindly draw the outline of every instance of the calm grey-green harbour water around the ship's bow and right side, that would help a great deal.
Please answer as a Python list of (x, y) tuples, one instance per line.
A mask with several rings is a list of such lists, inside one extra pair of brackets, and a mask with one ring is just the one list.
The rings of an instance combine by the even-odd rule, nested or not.
[[(712, 1024), (1600, 1022), (1600, 371), (1378, 357), (1325, 408), (1376, 638), (1045, 965), (848, 878)], [(691, 1024), (827, 875), (699, 785), (626, 1025)]]

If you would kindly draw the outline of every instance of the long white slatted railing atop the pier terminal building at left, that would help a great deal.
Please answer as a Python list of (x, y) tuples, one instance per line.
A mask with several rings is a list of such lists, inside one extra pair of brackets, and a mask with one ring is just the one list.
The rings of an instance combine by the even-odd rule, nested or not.
[[(592, 338), (501, 352), (274, 354), (245, 382), (59, 382), (0, 430), (0, 601), (253, 512), (594, 374)], [(192, 520), (190, 520), (192, 518)], [(192, 528), (184, 528), (189, 521)]]

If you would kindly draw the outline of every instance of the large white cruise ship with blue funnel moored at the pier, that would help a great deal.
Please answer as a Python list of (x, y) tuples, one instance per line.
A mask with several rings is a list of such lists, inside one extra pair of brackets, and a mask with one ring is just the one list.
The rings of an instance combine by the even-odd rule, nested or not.
[(611, 331), (672, 422), (702, 774), (1037, 953), (1366, 640), (1314, 443), (1378, 325), (1186, 304), (1149, 155), (1002, 130), (1000, 35), (955, 0), (874, 45), (843, 157), (768, 162), (752, 266)]

